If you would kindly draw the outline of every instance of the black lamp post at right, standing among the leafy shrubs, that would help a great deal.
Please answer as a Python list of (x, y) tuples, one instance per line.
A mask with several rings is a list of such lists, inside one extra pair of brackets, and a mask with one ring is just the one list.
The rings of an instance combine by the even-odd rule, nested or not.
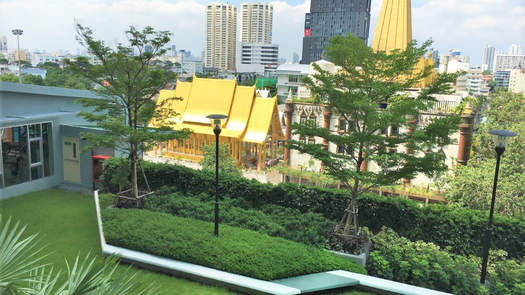
[(496, 187), (498, 186), (499, 162), (501, 159), (501, 155), (503, 154), (503, 152), (505, 151), (505, 148), (509, 144), (510, 138), (517, 135), (514, 132), (506, 131), (506, 130), (490, 130), (489, 134), (492, 135), (492, 138), (494, 139), (497, 160), (496, 160), (496, 172), (494, 173), (494, 186), (492, 187), (492, 201), (490, 202), (489, 224), (485, 231), (485, 248), (483, 249), (483, 262), (481, 264), (481, 278), (479, 280), (481, 284), (485, 284), (485, 279), (487, 277), (487, 263), (489, 260), (490, 239), (492, 237), (492, 216), (494, 215), (494, 202), (496, 201)]

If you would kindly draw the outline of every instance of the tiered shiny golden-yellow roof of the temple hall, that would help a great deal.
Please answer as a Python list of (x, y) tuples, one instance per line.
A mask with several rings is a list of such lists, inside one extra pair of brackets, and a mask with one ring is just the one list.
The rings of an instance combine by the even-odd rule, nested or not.
[[(161, 90), (157, 105), (170, 97), (182, 98), (165, 106), (180, 114), (164, 122), (175, 130), (189, 128), (197, 134), (213, 135), (206, 116), (225, 114), (228, 119), (221, 132), (223, 137), (264, 143), (270, 125), (278, 123), (277, 136), (284, 138), (277, 98), (257, 96), (255, 86), (238, 86), (235, 80), (194, 77), (192, 82), (178, 82), (175, 90)], [(150, 123), (155, 125), (158, 124), (154, 121)]]

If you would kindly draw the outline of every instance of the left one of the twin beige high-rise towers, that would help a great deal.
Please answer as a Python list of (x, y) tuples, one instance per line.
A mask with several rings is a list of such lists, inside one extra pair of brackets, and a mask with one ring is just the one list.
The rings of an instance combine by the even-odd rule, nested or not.
[(237, 7), (219, 2), (206, 4), (204, 66), (233, 70), (236, 35)]

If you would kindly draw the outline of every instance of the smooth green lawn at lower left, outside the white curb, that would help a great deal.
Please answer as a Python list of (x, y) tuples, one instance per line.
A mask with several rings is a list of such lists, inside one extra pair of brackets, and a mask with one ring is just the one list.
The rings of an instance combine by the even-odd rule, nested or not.
[[(88, 252), (101, 256), (100, 239), (95, 215), (95, 202), (90, 194), (67, 190), (44, 190), (0, 201), (0, 214), (6, 221), (20, 220), (27, 224), (25, 236), (39, 233), (40, 244), (46, 245), (42, 255), (51, 253), (42, 263), (52, 263), (54, 269), (66, 270), (65, 259), (70, 263), (80, 254)], [(119, 267), (123, 271), (127, 266)], [(149, 282), (160, 287), (159, 294), (235, 294), (224, 288), (202, 285), (133, 267), (147, 276)], [(372, 295), (360, 291), (338, 293), (344, 295)]]

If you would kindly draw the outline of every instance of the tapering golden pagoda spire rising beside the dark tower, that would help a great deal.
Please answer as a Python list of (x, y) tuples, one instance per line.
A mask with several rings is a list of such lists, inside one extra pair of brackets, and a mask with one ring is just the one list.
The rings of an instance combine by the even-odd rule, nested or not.
[(412, 41), (410, 0), (383, 0), (372, 49), (386, 51), (405, 49)]

